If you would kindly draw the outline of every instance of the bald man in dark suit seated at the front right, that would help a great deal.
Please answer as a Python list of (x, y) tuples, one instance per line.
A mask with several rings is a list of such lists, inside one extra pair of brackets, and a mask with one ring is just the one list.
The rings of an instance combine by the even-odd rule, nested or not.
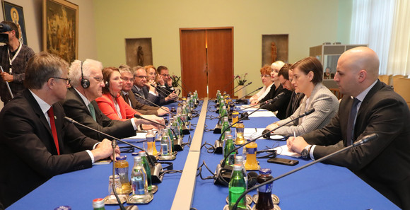
[(410, 112), (404, 99), (380, 82), (379, 59), (368, 47), (341, 54), (334, 77), (344, 94), (339, 112), (323, 129), (288, 139), (291, 150), (318, 159), (368, 134), (378, 138), (326, 162), (345, 166), (402, 209), (410, 209)]

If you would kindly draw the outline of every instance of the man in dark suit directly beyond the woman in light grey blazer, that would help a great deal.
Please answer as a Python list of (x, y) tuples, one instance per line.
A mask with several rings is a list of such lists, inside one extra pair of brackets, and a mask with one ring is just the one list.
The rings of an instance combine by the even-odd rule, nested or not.
[(293, 113), (298, 109), (300, 103), (302, 103), (303, 97), (305, 97), (305, 94), (295, 92), (295, 87), (292, 84), (292, 69), (281, 69), (278, 73), (278, 76), (282, 87), (286, 88), (288, 91), (292, 91), (291, 99), (289, 100), (288, 107), (286, 107), (286, 119), (293, 115)]

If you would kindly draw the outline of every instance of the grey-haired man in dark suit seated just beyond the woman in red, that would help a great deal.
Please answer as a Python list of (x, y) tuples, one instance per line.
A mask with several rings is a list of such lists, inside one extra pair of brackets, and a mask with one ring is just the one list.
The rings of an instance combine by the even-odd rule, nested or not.
[(169, 113), (168, 107), (156, 107), (151, 105), (144, 105), (139, 103), (136, 100), (136, 96), (132, 93), (131, 88), (134, 84), (134, 75), (131, 72), (131, 68), (127, 65), (119, 66), (119, 72), (121, 73), (122, 79), (122, 91), (121, 96), (124, 98), (125, 102), (127, 102), (134, 110), (137, 110), (143, 115), (157, 115), (163, 116)]

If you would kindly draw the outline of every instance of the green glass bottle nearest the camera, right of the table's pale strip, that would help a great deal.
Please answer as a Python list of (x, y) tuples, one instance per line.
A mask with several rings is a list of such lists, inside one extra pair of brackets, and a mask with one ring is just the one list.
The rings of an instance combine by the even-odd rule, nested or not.
[[(229, 182), (229, 209), (232, 209), (240, 195), (246, 191), (245, 179), (242, 175), (242, 166), (239, 164), (233, 165), (232, 177)], [(245, 197), (240, 199), (238, 209), (246, 209)]]

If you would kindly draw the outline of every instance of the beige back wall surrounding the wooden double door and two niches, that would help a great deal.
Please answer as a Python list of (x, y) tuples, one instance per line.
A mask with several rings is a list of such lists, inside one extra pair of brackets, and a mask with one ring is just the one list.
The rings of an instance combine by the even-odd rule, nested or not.
[(125, 38), (152, 37), (154, 66), (180, 75), (179, 28), (233, 26), (235, 74), (254, 73), (252, 91), (261, 86), (262, 34), (289, 34), (289, 62), (322, 42), (348, 42), (351, 1), (339, 1), (94, 0), (98, 59), (119, 66)]

